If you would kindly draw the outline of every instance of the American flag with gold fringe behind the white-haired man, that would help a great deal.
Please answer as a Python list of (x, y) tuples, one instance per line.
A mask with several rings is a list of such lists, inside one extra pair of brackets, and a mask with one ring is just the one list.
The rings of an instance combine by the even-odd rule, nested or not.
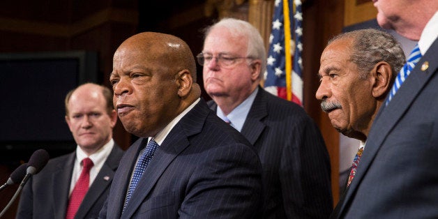
[[(291, 11), (293, 17), (289, 13)], [(302, 21), (301, 0), (294, 0), (292, 4), (289, 1), (275, 0), (272, 30), (269, 36), (269, 54), (264, 73), (266, 91), (301, 106), (303, 105)]]

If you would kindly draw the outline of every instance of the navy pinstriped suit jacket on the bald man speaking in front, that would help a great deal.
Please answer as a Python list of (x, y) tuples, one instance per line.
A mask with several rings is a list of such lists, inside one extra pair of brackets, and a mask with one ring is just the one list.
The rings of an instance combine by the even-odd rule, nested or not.
[(262, 205), (256, 151), (204, 100), (176, 123), (123, 209), (140, 138), (126, 151), (100, 218), (255, 218)]

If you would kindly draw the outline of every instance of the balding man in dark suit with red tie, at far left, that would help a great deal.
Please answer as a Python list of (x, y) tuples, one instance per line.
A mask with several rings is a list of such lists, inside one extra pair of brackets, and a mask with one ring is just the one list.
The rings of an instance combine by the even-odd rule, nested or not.
[[(66, 96), (66, 122), (77, 143), (76, 151), (49, 160), (24, 186), (17, 218), (97, 218), (110, 192), (123, 151), (112, 139), (117, 114), (112, 91), (98, 84), (82, 84)], [(89, 190), (73, 206), (73, 193), (83, 169), (91, 159)], [(78, 207), (78, 208), (77, 208)]]

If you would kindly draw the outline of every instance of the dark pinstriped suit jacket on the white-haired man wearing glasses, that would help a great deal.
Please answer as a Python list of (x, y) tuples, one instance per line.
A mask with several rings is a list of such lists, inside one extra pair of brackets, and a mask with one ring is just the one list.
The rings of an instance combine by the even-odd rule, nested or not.
[[(216, 103), (209, 106), (216, 111)], [(329, 153), (303, 107), (259, 87), (241, 133), (262, 160), (263, 218), (329, 217), (333, 210)]]

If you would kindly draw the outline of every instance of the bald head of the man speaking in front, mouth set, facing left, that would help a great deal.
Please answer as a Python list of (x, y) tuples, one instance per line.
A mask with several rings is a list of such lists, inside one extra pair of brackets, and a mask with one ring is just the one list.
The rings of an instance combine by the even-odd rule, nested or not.
[(138, 137), (155, 136), (201, 96), (192, 51), (165, 33), (125, 40), (114, 53), (110, 82), (123, 126)]

